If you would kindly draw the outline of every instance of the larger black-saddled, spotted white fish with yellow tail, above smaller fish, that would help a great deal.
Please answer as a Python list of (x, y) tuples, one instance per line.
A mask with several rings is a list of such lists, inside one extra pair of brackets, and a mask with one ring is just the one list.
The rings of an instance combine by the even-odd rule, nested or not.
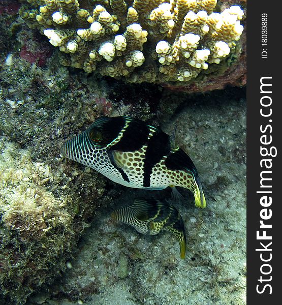
[(123, 186), (189, 189), (197, 207), (206, 206), (198, 171), (172, 136), (129, 116), (102, 116), (65, 142), (62, 155)]

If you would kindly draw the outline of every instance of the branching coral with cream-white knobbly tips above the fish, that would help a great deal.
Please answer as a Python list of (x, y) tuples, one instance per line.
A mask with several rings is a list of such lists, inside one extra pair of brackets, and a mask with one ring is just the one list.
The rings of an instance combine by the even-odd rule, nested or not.
[(189, 83), (227, 69), (240, 52), (243, 11), (220, 12), (216, 0), (24, 2), (20, 16), (64, 52), (61, 64), (89, 73)]

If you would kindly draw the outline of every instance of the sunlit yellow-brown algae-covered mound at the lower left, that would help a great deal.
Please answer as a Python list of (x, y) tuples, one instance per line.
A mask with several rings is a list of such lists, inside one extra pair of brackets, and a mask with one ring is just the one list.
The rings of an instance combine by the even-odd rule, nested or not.
[(0, 150), (1, 298), (19, 304), (66, 268), (89, 207), (71, 193), (52, 192), (63, 181), (47, 164), (33, 162), (31, 149), (1, 139)]

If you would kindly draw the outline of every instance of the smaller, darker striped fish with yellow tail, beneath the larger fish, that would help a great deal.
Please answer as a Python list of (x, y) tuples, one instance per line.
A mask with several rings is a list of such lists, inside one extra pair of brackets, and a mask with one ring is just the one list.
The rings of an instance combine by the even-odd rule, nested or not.
[(185, 227), (178, 210), (172, 204), (153, 198), (138, 198), (132, 205), (113, 211), (111, 217), (129, 224), (142, 234), (156, 235), (162, 230), (170, 231), (178, 239), (180, 257), (185, 258)]

